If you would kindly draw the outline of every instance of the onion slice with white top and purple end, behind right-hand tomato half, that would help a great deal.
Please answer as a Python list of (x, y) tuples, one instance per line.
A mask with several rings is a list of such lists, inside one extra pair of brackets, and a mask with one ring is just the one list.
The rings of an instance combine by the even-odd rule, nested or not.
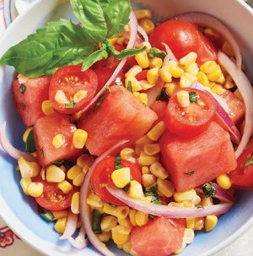
[(229, 117), (229, 106), (227, 105), (226, 101), (220, 97), (219, 95), (216, 95), (213, 93), (208, 87), (203, 86), (199, 82), (196, 82), (194, 84), (191, 84), (191, 88), (196, 88), (198, 90), (203, 90), (209, 93), (210, 95), (213, 96), (217, 103), (217, 108), (216, 108), (216, 117), (218, 117), (219, 121), (223, 123), (223, 125), (228, 128), (228, 131), (231, 135), (231, 139), (233, 140), (234, 143), (240, 144), (240, 131), (239, 129), (234, 125), (233, 121)]

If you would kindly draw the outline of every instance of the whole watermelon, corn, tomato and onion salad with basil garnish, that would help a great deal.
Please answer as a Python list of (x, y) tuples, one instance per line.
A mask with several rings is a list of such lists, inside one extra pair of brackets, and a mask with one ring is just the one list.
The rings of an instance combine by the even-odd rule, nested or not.
[(0, 58), (17, 70), (27, 127), (25, 152), (6, 123), (2, 147), (73, 247), (114, 255), (112, 240), (132, 255), (180, 253), (233, 207), (234, 189), (253, 187), (253, 90), (240, 48), (207, 14), (155, 25), (127, 0), (70, 3), (79, 24), (48, 23)]

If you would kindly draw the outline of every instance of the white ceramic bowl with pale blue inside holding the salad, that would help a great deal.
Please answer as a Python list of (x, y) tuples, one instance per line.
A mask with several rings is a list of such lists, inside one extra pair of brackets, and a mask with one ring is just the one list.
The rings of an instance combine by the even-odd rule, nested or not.
[[(71, 8), (66, 0), (38, 0), (29, 12), (20, 15), (8, 28), (0, 41), (0, 56), (3, 52), (24, 39), (31, 32), (49, 20), (72, 17)], [(243, 1), (235, 0), (140, 0), (132, 1), (136, 8), (152, 8), (155, 19), (170, 18), (175, 14), (200, 11), (213, 14), (221, 19), (240, 42), (244, 63), (249, 67), (250, 80), (253, 81), (253, 12)], [(250, 70), (251, 68), (251, 70)], [(0, 67), (0, 124), (7, 121), (8, 138), (12, 144), (23, 148), (21, 134), (24, 126), (15, 112), (10, 84), (13, 79), (13, 68)], [(0, 215), (19, 237), (32, 247), (46, 255), (81, 256), (100, 255), (89, 246), (84, 250), (77, 250), (67, 242), (59, 241), (52, 224), (43, 221), (37, 214), (33, 199), (25, 196), (19, 187), (19, 173), (15, 171), (17, 165), (3, 150), (0, 149)], [(195, 241), (180, 253), (181, 256), (211, 255), (224, 248), (253, 223), (253, 193), (239, 192), (234, 208), (228, 214), (219, 218), (218, 226), (211, 232), (199, 232)], [(116, 255), (126, 255), (113, 248)]]

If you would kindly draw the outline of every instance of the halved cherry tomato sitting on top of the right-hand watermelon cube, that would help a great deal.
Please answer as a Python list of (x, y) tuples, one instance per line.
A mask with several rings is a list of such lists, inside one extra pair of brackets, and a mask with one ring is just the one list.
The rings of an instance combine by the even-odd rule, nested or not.
[(165, 114), (166, 127), (171, 133), (183, 137), (196, 136), (204, 132), (213, 120), (216, 101), (204, 91), (185, 88), (183, 90), (188, 91), (189, 97), (193, 94), (196, 102), (190, 101), (189, 106), (182, 107), (177, 99), (180, 90), (176, 90), (170, 97)]

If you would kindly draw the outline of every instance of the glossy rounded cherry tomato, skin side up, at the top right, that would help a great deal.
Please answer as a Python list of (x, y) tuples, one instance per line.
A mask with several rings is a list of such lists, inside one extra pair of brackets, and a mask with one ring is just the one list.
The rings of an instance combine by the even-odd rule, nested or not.
[(165, 50), (162, 43), (170, 46), (177, 59), (186, 56), (189, 52), (196, 52), (199, 64), (207, 60), (217, 59), (217, 50), (196, 25), (183, 20), (168, 20), (158, 25), (150, 35), (153, 47)]

